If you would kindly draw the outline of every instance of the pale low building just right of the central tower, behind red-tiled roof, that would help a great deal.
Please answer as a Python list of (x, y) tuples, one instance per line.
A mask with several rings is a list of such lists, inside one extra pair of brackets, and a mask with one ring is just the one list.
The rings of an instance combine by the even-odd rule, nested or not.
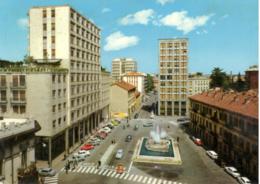
[(189, 76), (189, 95), (209, 90), (210, 79), (206, 76)]

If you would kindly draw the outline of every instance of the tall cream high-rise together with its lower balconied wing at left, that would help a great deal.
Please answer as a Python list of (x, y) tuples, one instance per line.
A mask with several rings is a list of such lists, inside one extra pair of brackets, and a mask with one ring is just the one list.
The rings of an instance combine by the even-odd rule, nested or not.
[(100, 29), (70, 6), (30, 9), (29, 55), (34, 62), (20, 71), (1, 71), (1, 83), (6, 80), (1, 96), (7, 99), (1, 111), (39, 122), (37, 159), (51, 165), (101, 121), (99, 42)]

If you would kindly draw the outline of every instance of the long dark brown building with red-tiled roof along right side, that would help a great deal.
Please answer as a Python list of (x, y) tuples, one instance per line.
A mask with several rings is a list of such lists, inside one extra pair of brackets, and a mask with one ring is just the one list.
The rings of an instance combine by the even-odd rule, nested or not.
[(242, 175), (258, 178), (258, 93), (220, 89), (190, 98), (191, 130)]

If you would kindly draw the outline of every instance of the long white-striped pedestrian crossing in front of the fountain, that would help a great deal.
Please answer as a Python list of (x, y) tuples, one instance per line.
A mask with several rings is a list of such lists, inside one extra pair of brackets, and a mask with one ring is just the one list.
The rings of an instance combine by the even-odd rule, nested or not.
[[(61, 172), (65, 172), (64, 169), (61, 170)], [(150, 176), (143, 176), (138, 174), (130, 174), (128, 172), (124, 172), (122, 174), (118, 174), (114, 167), (101, 167), (97, 168), (97, 166), (94, 165), (88, 165), (88, 166), (78, 166), (75, 169), (70, 169), (68, 171), (69, 173), (85, 173), (85, 174), (96, 174), (104, 177), (110, 177), (114, 179), (119, 180), (126, 180), (131, 181), (133, 183), (143, 183), (143, 184), (182, 184), (181, 182), (177, 181), (171, 181), (171, 180), (165, 180), (160, 178), (154, 178)]]

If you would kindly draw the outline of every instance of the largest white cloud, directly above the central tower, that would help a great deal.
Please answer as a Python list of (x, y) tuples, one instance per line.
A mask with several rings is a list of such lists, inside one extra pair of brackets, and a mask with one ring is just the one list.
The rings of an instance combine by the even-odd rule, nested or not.
[(160, 23), (164, 26), (175, 27), (177, 30), (187, 34), (197, 27), (204, 26), (213, 15), (189, 17), (187, 14), (187, 11), (172, 12), (161, 18)]

